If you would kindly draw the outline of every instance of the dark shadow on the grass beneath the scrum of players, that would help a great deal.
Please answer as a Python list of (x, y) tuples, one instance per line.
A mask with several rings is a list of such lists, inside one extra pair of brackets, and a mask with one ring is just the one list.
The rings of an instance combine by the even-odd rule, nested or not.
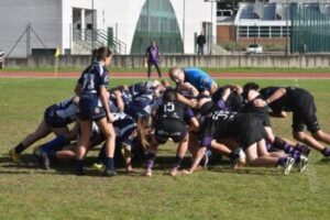
[[(75, 163), (74, 161), (61, 161), (58, 162), (52, 162), (52, 169), (48, 172), (42, 167), (41, 161), (37, 160), (33, 155), (23, 154), (20, 155), (21, 164), (12, 163), (8, 155), (0, 157), (0, 164), (1, 167), (4, 168), (14, 168), (13, 170), (0, 170), (0, 173), (3, 174), (46, 174), (46, 175), (75, 175), (74, 168)], [(88, 156), (84, 161), (84, 169), (86, 172), (86, 175), (84, 176), (96, 176), (96, 177), (103, 177), (103, 170), (94, 169), (91, 168), (92, 164), (97, 161), (97, 157), (95, 156)], [(220, 161), (220, 162), (219, 162)], [(321, 161), (320, 164), (329, 163), (330, 160)], [(156, 156), (155, 164), (153, 167), (153, 170), (155, 172), (164, 172), (163, 175), (169, 176), (169, 170), (173, 167), (173, 164), (175, 163), (175, 157), (173, 156)], [(191, 158), (185, 157), (182, 163), (182, 168), (188, 168), (191, 165)], [(266, 176), (266, 175), (274, 175), (274, 176), (280, 176), (283, 175), (279, 169), (275, 168), (255, 168), (255, 167), (242, 167), (239, 169), (231, 168), (231, 162), (229, 160), (217, 160), (211, 161), (209, 163), (209, 167), (205, 168), (202, 170), (208, 172), (215, 172), (215, 173), (228, 173), (228, 174), (243, 174), (243, 175), (260, 175), (260, 176)], [(142, 176), (144, 173), (144, 161), (143, 160), (133, 160), (133, 167), (138, 168), (136, 174), (128, 174), (124, 170), (124, 161), (119, 160), (116, 162), (117, 166), (117, 173), (118, 175), (127, 175), (127, 176)], [(18, 170), (19, 168), (22, 168), (23, 170)], [(34, 169), (34, 172), (29, 172), (24, 169)], [(141, 170), (142, 169), (142, 170)], [(55, 170), (55, 172), (53, 172)]]

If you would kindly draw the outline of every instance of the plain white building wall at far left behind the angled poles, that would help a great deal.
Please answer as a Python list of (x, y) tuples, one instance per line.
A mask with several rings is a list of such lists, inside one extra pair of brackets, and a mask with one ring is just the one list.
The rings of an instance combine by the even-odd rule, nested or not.
[[(29, 23), (48, 48), (61, 46), (61, 18), (58, 0), (0, 0), (0, 48), (8, 54)], [(44, 48), (33, 33), (31, 48)], [(26, 35), (11, 56), (26, 56)]]

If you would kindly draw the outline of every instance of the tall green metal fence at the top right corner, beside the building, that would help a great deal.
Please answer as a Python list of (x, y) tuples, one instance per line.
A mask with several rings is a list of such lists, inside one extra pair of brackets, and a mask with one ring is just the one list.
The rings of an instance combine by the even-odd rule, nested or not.
[(330, 52), (330, 16), (320, 10), (293, 4), (292, 53)]

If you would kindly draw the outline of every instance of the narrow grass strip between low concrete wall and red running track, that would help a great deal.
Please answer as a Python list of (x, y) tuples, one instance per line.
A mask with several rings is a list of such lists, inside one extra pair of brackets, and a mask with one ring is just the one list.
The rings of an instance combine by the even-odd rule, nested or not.
[[(207, 73), (330, 73), (330, 68), (261, 68), (261, 67), (230, 67), (230, 68), (202, 68)], [(162, 68), (164, 73), (168, 72), (168, 67)], [(53, 66), (45, 67), (8, 67), (2, 72), (23, 73), (23, 72), (51, 72), (54, 73)], [(81, 67), (58, 67), (59, 73), (81, 72)], [(145, 73), (145, 68), (119, 68), (111, 67), (112, 73)], [(1, 70), (0, 70), (1, 75)]]

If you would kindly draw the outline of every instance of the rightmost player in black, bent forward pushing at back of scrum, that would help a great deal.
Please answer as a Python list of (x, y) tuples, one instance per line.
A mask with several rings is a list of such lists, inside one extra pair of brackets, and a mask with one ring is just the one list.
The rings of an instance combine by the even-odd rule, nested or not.
[[(264, 98), (261, 105), (268, 105), (273, 116), (284, 118), (286, 112), (293, 112), (293, 134), (297, 141), (321, 152), (326, 157), (330, 156), (330, 148), (320, 143), (330, 144), (330, 134), (319, 125), (311, 94), (296, 87), (267, 87), (261, 89), (260, 94)], [(311, 135), (304, 132), (305, 125)]]

